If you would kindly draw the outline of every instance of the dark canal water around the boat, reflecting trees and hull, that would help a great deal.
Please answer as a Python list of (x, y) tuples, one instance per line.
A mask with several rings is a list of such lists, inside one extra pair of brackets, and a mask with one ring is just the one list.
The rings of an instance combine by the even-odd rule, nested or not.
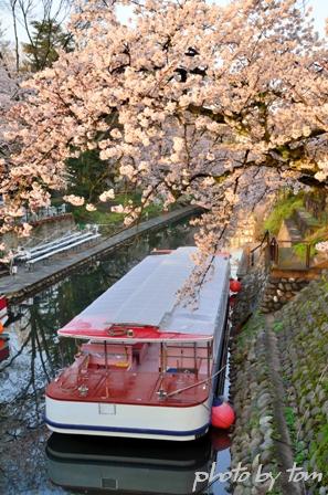
[[(230, 465), (230, 440), (211, 432), (180, 442), (51, 435), (44, 426), (44, 387), (72, 362), (76, 347), (56, 329), (119, 280), (149, 252), (193, 244), (189, 221), (144, 234), (106, 259), (75, 272), (12, 308), (11, 357), (0, 365), (0, 493), (15, 494), (189, 494), (221, 495), (210, 487), (211, 470)], [(215, 463), (215, 464), (213, 464)], [(201, 486), (205, 486), (201, 491)]]

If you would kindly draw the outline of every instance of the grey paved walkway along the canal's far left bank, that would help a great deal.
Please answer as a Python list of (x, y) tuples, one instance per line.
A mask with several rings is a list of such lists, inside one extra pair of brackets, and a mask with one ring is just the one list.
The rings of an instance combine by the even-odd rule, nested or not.
[(62, 259), (54, 259), (49, 264), (38, 264), (33, 272), (28, 272), (24, 267), (21, 267), (17, 275), (8, 275), (0, 278), (0, 294), (4, 294), (14, 302), (22, 301), (29, 297), (29, 295), (63, 278), (71, 271), (103, 257), (136, 235), (160, 229), (168, 223), (176, 222), (200, 211), (198, 207), (180, 208), (141, 222), (136, 227), (125, 229), (87, 250), (70, 253)]

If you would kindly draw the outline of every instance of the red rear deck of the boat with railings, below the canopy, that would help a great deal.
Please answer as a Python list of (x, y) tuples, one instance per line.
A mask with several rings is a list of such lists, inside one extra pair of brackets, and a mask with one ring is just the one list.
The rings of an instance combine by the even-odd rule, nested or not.
[[(172, 349), (177, 352), (177, 348), (171, 348), (171, 354)], [(62, 401), (195, 406), (209, 394), (210, 385), (197, 385), (208, 377), (202, 357), (205, 350), (200, 349), (195, 360), (192, 347), (182, 354), (179, 348), (179, 359), (176, 355), (167, 357), (165, 369), (169, 370), (161, 373), (158, 344), (108, 345), (106, 351), (102, 344), (85, 344), (75, 362), (49, 385), (46, 396)], [(159, 396), (160, 390), (170, 393), (190, 386), (194, 387), (170, 398)]]

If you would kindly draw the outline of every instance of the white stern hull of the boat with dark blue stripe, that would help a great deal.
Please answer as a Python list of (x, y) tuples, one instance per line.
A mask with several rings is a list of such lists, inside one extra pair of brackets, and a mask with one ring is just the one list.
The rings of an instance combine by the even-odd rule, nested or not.
[[(210, 401), (192, 407), (112, 404), (45, 398), (45, 422), (57, 433), (189, 441), (209, 430)], [(133, 424), (133, 428), (131, 428)]]

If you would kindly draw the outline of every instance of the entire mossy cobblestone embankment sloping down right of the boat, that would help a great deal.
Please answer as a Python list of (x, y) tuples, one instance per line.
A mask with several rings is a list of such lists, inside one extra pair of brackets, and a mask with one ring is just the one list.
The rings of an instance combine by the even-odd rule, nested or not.
[[(328, 282), (314, 281), (275, 317), (255, 313), (231, 347), (236, 412), (232, 467), (253, 477), (234, 495), (265, 494), (255, 474), (279, 476), (272, 494), (328, 494)], [(322, 480), (289, 482), (293, 463)]]

